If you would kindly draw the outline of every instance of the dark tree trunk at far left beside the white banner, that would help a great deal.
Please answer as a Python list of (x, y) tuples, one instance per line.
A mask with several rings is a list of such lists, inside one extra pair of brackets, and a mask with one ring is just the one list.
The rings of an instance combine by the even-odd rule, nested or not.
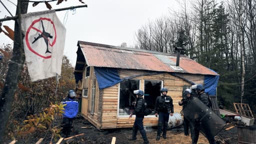
[[(20, 7), (22, 7), (22, 9)], [(27, 1), (21, 2), (21, 0), (17, 0), (16, 15), (19, 13), (26, 13), (27, 7)], [(19, 26), (19, 21), (16, 19), (14, 26), (13, 52), (11, 60), (8, 64), (8, 71), (5, 77), (4, 87), (0, 99), (0, 143), (3, 143), (4, 141), (4, 131), (8, 122), (10, 111), (12, 110), (15, 91), (17, 89), (17, 83), (20, 78), (20, 71), (23, 68), (25, 60)]]

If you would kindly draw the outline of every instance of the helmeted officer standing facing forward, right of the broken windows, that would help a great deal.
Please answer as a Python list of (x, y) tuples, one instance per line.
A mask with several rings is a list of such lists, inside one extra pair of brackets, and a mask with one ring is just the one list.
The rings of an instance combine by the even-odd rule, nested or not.
[(157, 125), (157, 135), (156, 140), (160, 139), (161, 127), (163, 126), (162, 130), (162, 137), (166, 139), (166, 130), (169, 120), (169, 115), (173, 115), (173, 103), (172, 98), (167, 94), (167, 88), (161, 88), (161, 96), (157, 96), (155, 99), (154, 105), (154, 114), (158, 116), (158, 125)]

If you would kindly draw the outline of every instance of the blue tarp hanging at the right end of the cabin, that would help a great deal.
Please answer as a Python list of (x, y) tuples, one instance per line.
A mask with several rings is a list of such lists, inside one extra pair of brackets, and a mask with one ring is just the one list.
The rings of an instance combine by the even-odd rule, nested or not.
[[(210, 68), (209, 68), (210, 69)], [(215, 72), (214, 70), (210, 69)], [(217, 74), (217, 72), (215, 72)], [(205, 75), (204, 76), (204, 88), (205, 92), (208, 92), (209, 95), (216, 95), (216, 87), (218, 85), (219, 75)]]

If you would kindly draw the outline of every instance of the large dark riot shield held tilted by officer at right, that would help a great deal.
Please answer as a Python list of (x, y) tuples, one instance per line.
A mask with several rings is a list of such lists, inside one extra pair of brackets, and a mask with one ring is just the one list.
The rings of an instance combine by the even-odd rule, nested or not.
[(200, 99), (193, 97), (181, 111), (184, 117), (200, 128), (204, 136), (215, 136), (225, 126), (225, 121), (207, 107)]

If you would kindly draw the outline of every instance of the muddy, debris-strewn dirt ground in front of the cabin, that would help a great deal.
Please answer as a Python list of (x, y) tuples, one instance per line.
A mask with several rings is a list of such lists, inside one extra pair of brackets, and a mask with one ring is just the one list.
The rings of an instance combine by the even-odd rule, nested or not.
[[(85, 128), (81, 128), (85, 127)], [(103, 131), (99, 131), (92, 124), (90, 124), (83, 117), (77, 117), (74, 120), (73, 131), (70, 136), (84, 133), (84, 135), (75, 137), (68, 143), (111, 143), (112, 137), (116, 137), (115, 143), (118, 144), (128, 144), (128, 143), (143, 143), (143, 139), (138, 131), (137, 139), (135, 141), (128, 140), (131, 137), (132, 128), (116, 128), (116, 129), (104, 129)], [(189, 136), (185, 136), (183, 133), (183, 127), (176, 127), (167, 130), (167, 139), (163, 139), (156, 141), (156, 127), (150, 127), (146, 129), (146, 134), (149, 140), (149, 143), (191, 143), (191, 138)], [(232, 128), (230, 130), (222, 130), (216, 136), (215, 140), (217, 143), (238, 143), (237, 142), (237, 128)], [(62, 143), (65, 143), (62, 141)], [(198, 144), (208, 143), (207, 138), (205, 138), (201, 133), (199, 135)]]

